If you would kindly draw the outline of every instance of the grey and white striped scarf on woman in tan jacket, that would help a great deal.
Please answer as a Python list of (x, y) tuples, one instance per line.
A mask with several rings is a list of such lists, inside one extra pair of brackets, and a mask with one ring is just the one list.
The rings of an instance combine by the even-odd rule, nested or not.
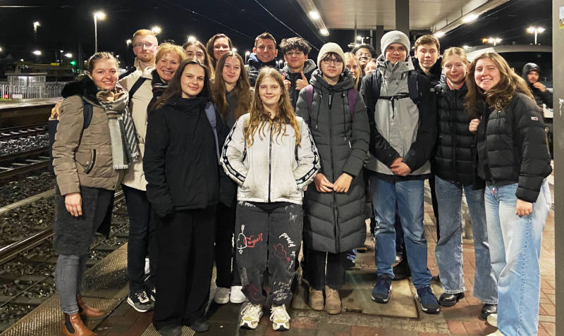
[(109, 120), (111, 157), (114, 169), (127, 169), (140, 158), (135, 125), (128, 109), (129, 96), (116, 85), (116, 93), (100, 90), (96, 97)]

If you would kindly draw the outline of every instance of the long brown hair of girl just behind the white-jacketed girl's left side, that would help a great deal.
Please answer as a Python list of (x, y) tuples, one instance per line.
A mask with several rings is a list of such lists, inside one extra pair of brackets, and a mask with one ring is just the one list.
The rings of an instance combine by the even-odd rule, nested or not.
[(247, 76), (247, 71), (245, 71), (245, 63), (243, 63), (243, 58), (235, 51), (227, 51), (225, 54), (221, 55), (219, 61), (217, 61), (215, 79), (210, 87), (210, 92), (212, 99), (221, 113), (221, 117), (225, 120), (227, 116), (228, 104), (226, 95), (225, 80), (223, 80), (223, 66), (225, 66), (226, 59), (228, 57), (235, 57), (238, 59), (240, 64), (240, 74), (235, 84), (235, 94), (237, 95), (237, 107), (235, 107), (235, 120), (240, 116), (247, 113), (251, 106), (251, 93), (249, 85), (249, 77)]

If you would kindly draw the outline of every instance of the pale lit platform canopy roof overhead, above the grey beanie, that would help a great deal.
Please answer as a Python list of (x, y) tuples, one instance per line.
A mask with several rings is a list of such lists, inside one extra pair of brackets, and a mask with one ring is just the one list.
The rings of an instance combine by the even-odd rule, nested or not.
[[(321, 29), (384, 30), (396, 28), (396, 10), (409, 15), (410, 30), (448, 32), (473, 15), (509, 0), (297, 0), (312, 23)], [(406, 4), (409, 4), (406, 10)], [(319, 13), (319, 18), (315, 19)], [(402, 12), (404, 12), (402, 14)]]

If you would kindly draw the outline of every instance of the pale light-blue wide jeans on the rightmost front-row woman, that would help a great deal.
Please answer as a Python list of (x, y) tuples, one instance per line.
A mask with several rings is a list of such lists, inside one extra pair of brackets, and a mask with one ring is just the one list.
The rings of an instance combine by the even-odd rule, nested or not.
[(517, 216), (516, 191), (517, 183), (485, 191), (491, 266), (498, 279), (498, 329), (503, 335), (537, 335), (539, 256), (551, 194), (544, 180), (533, 212)]

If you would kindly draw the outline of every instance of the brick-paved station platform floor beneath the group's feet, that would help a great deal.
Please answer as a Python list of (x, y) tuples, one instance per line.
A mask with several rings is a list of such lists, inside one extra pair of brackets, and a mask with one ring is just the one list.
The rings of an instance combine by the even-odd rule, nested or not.
[[(434, 249), (436, 246), (436, 227), (430, 204), (425, 204), (425, 234), (428, 240), (432, 282), (434, 293), (439, 297), (441, 286), (436, 280), (438, 270)], [(347, 272), (346, 285), (341, 292), (343, 312), (329, 315), (324, 311), (313, 311), (305, 304), (305, 287), (300, 285), (298, 293), (288, 313), (291, 328), (283, 335), (323, 335), (323, 336), (368, 336), (368, 335), (487, 335), (495, 328), (479, 320), (482, 303), (472, 296), (474, 282), (474, 247), (471, 239), (463, 241), (465, 274), (465, 298), (453, 307), (441, 307), (441, 313), (423, 313), (415, 299), (415, 287), (410, 280), (393, 281), (392, 297), (388, 304), (376, 304), (370, 298), (375, 282), (374, 242), (367, 238), (368, 251), (357, 255), (357, 266)], [(99, 320), (87, 321), (99, 336), (157, 336), (152, 326), (152, 313), (138, 313), (125, 299), (128, 295), (126, 273), (127, 247), (114, 251), (106, 259), (87, 270), (84, 295), (87, 303), (110, 311)], [(539, 335), (555, 335), (555, 259), (554, 259), (554, 216), (546, 221), (541, 250), (541, 303), (539, 307)], [(215, 276), (215, 271), (214, 271)], [(216, 290), (212, 279), (211, 292)], [(210, 297), (207, 318), (210, 330), (202, 335), (281, 335), (271, 329), (269, 311), (264, 315), (257, 330), (238, 328), (240, 304), (215, 304)], [(29, 313), (18, 323), (8, 328), (1, 336), (19, 335), (60, 335), (62, 313), (56, 295)], [(183, 336), (195, 335), (188, 327), (183, 328)]]

